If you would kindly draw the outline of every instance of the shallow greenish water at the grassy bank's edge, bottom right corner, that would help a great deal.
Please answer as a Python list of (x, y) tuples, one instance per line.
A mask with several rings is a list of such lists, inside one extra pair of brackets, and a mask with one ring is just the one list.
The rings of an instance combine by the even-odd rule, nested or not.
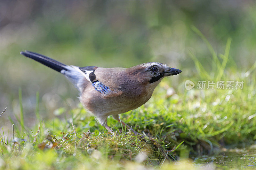
[[(201, 156), (194, 159), (196, 167), (211, 166), (214, 168), (256, 168), (256, 144), (242, 149), (225, 149), (212, 156)], [(214, 169), (213, 168), (213, 169)], [(212, 168), (210, 168), (212, 169)]]

